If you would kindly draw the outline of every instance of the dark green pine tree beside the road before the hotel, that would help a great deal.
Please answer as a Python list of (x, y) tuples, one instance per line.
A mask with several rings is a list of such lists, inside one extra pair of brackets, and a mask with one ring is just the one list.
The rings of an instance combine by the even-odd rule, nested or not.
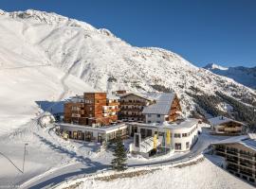
[(127, 156), (120, 137), (117, 138), (117, 146), (113, 155), (115, 158), (111, 162), (112, 169), (117, 171), (123, 171), (127, 169)]

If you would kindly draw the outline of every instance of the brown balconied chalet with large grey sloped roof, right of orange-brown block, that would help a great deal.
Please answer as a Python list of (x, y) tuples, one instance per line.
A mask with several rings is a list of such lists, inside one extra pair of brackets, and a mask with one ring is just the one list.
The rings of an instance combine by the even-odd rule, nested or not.
[(119, 117), (123, 121), (175, 121), (178, 112), (181, 112), (181, 108), (174, 93), (132, 93), (120, 96)]

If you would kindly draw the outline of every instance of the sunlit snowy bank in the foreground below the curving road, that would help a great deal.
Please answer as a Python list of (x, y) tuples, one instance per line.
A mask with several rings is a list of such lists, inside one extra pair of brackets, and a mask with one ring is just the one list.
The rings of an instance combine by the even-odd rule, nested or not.
[[(104, 174), (106, 175), (106, 174)], [(103, 176), (104, 176), (103, 175)], [(191, 166), (185, 166), (182, 168), (178, 167), (162, 167), (146, 175), (117, 179), (110, 181), (96, 180), (102, 177), (101, 174), (87, 177), (84, 179), (72, 180), (64, 183), (58, 188), (64, 188), (66, 186), (78, 184), (77, 187), (80, 189), (148, 189), (148, 188), (159, 188), (159, 189), (249, 189), (254, 188), (247, 184), (243, 180), (238, 180), (234, 176), (230, 175), (225, 170), (216, 166), (210, 162), (209, 159), (205, 159), (201, 163), (193, 164)]]

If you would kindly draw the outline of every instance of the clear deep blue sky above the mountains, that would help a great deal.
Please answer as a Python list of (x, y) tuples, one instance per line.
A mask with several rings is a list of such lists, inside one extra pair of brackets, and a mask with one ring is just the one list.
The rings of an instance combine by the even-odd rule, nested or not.
[(0, 0), (7, 11), (54, 11), (203, 66), (256, 66), (256, 0)]

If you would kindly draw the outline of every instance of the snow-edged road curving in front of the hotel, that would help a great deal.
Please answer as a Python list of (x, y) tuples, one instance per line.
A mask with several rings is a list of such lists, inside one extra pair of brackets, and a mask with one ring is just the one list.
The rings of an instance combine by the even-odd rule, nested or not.
[[(148, 166), (148, 165), (156, 165), (156, 164), (168, 164), (168, 163), (178, 163), (190, 160), (197, 155), (201, 154), (212, 142), (220, 141), (226, 139), (225, 136), (212, 136), (209, 134), (208, 129), (203, 129), (202, 134), (199, 136), (197, 143), (192, 147), (191, 151), (181, 155), (179, 157), (155, 161), (151, 163), (130, 163), (129, 167), (138, 167), (138, 166)], [(103, 169), (109, 168), (108, 164), (102, 164), (98, 162), (89, 162), (88, 163), (75, 163), (64, 166), (60, 169), (57, 169), (53, 172), (50, 172), (42, 177), (37, 177), (34, 180), (31, 180), (29, 183), (26, 183), (21, 186), (21, 188), (50, 188), (53, 185), (56, 185), (65, 180), (69, 180), (71, 178), (81, 178), (86, 174), (92, 174), (97, 171), (101, 171)]]

